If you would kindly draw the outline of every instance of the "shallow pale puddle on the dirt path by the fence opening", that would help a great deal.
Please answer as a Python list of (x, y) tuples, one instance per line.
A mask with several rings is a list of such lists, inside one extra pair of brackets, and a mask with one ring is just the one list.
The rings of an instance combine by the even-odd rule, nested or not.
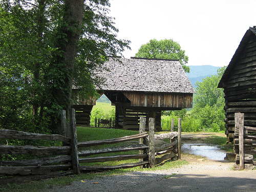
[(221, 151), (217, 145), (185, 143), (181, 146), (181, 151), (211, 160), (224, 160), (226, 157), (226, 152)]

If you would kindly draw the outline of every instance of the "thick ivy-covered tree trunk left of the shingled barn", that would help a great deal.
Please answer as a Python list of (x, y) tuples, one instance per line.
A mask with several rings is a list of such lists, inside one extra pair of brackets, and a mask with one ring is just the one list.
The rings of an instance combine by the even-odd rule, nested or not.
[[(65, 1), (61, 27), (57, 34), (59, 36), (62, 35), (62, 37), (57, 40), (56, 47), (59, 48), (59, 54), (55, 65), (63, 73), (54, 79), (54, 81), (58, 82), (57, 85), (60, 85), (54, 88), (56, 93), (54, 94), (54, 100), (57, 101), (63, 110), (67, 111), (67, 118), (69, 118), (68, 112), (72, 105), (73, 72), (77, 55), (77, 44), (80, 37), (83, 7), (83, 0)], [(60, 126), (59, 118), (57, 126)]]

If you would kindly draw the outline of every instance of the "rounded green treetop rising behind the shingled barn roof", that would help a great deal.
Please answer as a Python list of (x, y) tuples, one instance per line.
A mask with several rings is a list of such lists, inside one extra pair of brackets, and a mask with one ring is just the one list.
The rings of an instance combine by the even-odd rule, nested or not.
[(185, 51), (181, 49), (178, 42), (173, 39), (151, 39), (150, 42), (143, 44), (139, 48), (135, 56), (143, 58), (178, 59), (185, 72), (189, 72), (189, 67), (186, 66), (188, 56), (185, 55)]

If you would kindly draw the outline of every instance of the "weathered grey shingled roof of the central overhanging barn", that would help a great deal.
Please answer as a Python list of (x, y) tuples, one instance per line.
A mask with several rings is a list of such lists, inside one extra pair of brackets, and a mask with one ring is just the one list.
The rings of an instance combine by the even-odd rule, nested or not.
[[(97, 76), (104, 79), (98, 90), (195, 93), (179, 60), (110, 58)], [(108, 69), (105, 70), (104, 68)]]

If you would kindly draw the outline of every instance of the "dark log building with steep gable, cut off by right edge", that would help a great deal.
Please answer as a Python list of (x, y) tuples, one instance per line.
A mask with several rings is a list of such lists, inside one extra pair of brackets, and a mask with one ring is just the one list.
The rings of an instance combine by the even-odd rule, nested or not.
[(234, 113), (245, 114), (245, 126), (256, 127), (256, 28), (250, 27), (234, 53), (218, 88), (225, 93), (227, 142), (233, 140)]

